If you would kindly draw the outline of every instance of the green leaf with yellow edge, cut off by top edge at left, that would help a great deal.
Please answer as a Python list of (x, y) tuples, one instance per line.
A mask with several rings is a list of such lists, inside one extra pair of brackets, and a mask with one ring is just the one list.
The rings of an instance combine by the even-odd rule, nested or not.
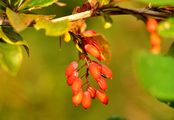
[(53, 3), (57, 2), (58, 0), (26, 0), (21, 7), (19, 8), (19, 10), (22, 9), (39, 9), (42, 7), (47, 7), (49, 5), (52, 5)]

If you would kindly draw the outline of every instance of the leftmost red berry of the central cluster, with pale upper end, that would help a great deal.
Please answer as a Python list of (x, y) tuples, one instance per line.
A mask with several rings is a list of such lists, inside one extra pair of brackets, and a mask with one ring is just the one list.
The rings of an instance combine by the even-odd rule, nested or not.
[(77, 69), (78, 63), (76, 61), (71, 62), (66, 68), (65, 75), (68, 78), (73, 74), (73, 72)]

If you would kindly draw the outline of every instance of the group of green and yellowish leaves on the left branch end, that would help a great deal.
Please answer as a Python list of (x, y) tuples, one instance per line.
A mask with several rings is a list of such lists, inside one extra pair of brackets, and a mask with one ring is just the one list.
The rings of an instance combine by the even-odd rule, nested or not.
[[(22, 62), (22, 57), (19, 57), (19, 60), (17, 60), (17, 58), (14, 59), (14, 57), (5, 57), (8, 56), (7, 53), (9, 53), (9, 55), (14, 55), (11, 54), (11, 52), (13, 52), (12, 50), (14, 50), (16, 56), (22, 56), (21, 47), (24, 47), (27, 54), (29, 55), (29, 46), (27, 42), (23, 40), (19, 32), (25, 30), (28, 26), (30, 26), (33, 23), (35, 23), (35, 29), (44, 29), (46, 35), (49, 36), (60, 36), (69, 30), (70, 24), (68, 20), (52, 22), (51, 19), (55, 17), (54, 15), (31, 14), (32, 10), (47, 7), (55, 2), (57, 2), (57, 0), (8, 0), (0, 2), (0, 6), (3, 6), (1, 11), (5, 13), (10, 23), (9, 26), (0, 27), (0, 44), (8, 46), (5, 47), (6, 52), (1, 53), (1, 66), (7, 72), (12, 73), (13, 75), (17, 74), (17, 71), (19, 70), (21, 63), (16, 64), (15, 61)], [(12, 47), (13, 49), (7, 49), (10, 47)], [(2, 50), (3, 49), (4, 48), (2, 48)], [(7, 55), (5, 55), (5, 53)], [(11, 61), (10, 64), (9, 61)]]

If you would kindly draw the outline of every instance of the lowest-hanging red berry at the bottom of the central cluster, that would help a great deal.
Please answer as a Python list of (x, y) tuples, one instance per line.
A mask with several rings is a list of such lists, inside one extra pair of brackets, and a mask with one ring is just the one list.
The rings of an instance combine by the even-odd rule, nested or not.
[(91, 96), (90, 93), (88, 91), (85, 91), (83, 93), (83, 98), (82, 98), (82, 107), (87, 109), (89, 108), (91, 105)]

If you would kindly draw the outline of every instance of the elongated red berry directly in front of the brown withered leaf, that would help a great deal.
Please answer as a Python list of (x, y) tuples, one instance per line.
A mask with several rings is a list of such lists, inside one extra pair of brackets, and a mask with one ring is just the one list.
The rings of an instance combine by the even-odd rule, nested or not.
[(96, 57), (96, 58), (98, 58), (98, 57), (100, 56), (99, 50), (98, 50), (95, 46), (93, 46), (93, 45), (91, 45), (91, 44), (86, 44), (86, 45), (85, 45), (85, 50), (86, 50), (86, 52), (88, 52), (90, 55), (92, 55), (92, 56), (94, 56), (94, 57)]

